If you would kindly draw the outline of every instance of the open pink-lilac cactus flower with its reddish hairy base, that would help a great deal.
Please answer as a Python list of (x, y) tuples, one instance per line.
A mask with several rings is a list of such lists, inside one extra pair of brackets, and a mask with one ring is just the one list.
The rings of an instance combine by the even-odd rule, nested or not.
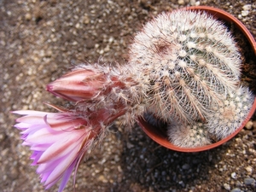
[(24, 115), (16, 119), (18, 123), (15, 127), (21, 130), (23, 144), (33, 151), (32, 166), (38, 166), (37, 172), (45, 189), (61, 179), (60, 192), (96, 138), (123, 112), (113, 114), (107, 109), (96, 112), (57, 109), (58, 113), (29, 110), (13, 113)]

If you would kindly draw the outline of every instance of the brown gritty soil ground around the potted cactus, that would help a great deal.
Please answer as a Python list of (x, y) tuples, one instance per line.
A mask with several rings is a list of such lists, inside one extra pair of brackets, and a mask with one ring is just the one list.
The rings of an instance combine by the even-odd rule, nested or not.
[[(45, 90), (46, 84), (81, 61), (125, 63), (143, 23), (162, 11), (195, 4), (230, 12), (256, 37), (255, 0), (0, 0), (0, 191), (44, 191), (10, 111), (49, 111), (44, 102), (65, 105)], [(79, 166), (76, 190), (253, 192), (255, 150), (255, 122), (230, 142), (192, 154), (160, 147), (137, 125), (126, 131), (117, 124)], [(73, 191), (72, 180), (64, 191)]]

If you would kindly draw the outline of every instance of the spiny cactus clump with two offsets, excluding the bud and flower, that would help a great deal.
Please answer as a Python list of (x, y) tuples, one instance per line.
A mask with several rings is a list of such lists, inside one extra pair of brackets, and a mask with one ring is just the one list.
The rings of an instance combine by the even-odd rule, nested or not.
[[(131, 44), (130, 62), (141, 72), (145, 103), (150, 103), (148, 120), (170, 124), (168, 136), (179, 147), (209, 144), (211, 134), (218, 139), (229, 136), (253, 105), (254, 96), (239, 88), (236, 42), (221, 22), (205, 13), (176, 11), (148, 22)], [(246, 94), (236, 96), (245, 101), (240, 107), (230, 98), (237, 91)], [(226, 106), (223, 112), (227, 100), (237, 103), (236, 110)], [(228, 111), (236, 120), (224, 115)]]

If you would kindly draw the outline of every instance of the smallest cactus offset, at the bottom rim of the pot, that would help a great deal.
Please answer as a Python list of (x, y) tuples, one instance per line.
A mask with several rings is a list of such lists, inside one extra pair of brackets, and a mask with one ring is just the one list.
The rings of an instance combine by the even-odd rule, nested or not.
[(205, 124), (195, 122), (193, 125), (167, 126), (167, 135), (170, 142), (181, 148), (195, 148), (211, 144)]

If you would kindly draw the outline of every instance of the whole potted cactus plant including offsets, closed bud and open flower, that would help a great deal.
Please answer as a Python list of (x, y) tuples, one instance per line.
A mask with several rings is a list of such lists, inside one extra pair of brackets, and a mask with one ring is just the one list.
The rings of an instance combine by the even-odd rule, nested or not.
[(164, 13), (137, 33), (125, 66), (80, 65), (47, 86), (72, 108), (17, 111), (25, 116), (15, 126), (34, 151), (45, 187), (62, 178), (61, 191), (73, 167), (120, 116), (132, 125), (146, 114), (184, 148), (236, 131), (253, 103), (241, 88), (240, 64), (236, 43), (218, 20), (188, 10)]

